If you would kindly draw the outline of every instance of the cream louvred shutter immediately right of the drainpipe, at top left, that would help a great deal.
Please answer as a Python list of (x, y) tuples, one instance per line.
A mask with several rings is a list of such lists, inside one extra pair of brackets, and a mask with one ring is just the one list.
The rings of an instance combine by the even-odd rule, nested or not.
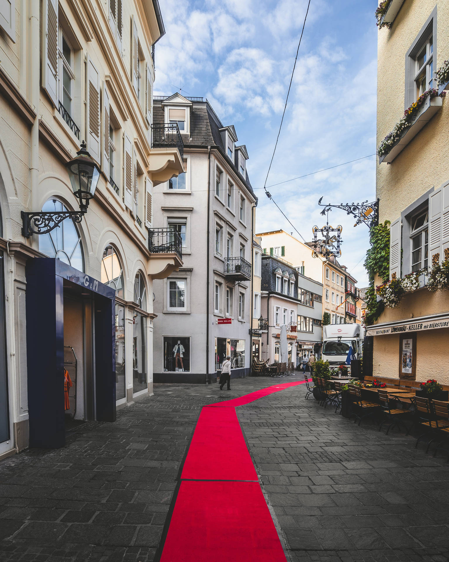
[(58, 0), (44, 0), (43, 8), (42, 87), (58, 107)]

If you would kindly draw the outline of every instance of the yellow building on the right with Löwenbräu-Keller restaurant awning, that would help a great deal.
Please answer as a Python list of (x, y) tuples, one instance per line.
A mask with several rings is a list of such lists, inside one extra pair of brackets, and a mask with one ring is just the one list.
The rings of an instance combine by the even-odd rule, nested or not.
[[(449, 58), (449, 2), (405, 0), (390, 13), (391, 29), (379, 30), (377, 146), (423, 92), (445, 89), (436, 71)], [(397, 12), (397, 13), (396, 13)], [(426, 97), (427, 96), (427, 97)], [(379, 222), (390, 221), (390, 279), (441, 264), (449, 247), (447, 99), (428, 96), (400, 140), (377, 165)], [(375, 285), (382, 282), (375, 279)], [(420, 288), (374, 327), (373, 375), (449, 383), (449, 292)]]

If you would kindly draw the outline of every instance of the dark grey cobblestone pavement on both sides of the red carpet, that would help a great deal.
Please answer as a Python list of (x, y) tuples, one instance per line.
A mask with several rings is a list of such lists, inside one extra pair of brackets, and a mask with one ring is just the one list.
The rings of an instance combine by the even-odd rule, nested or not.
[[(114, 424), (0, 461), (0, 560), (158, 560), (201, 406), (294, 379), (232, 380), (230, 392), (157, 384)], [(290, 562), (449, 560), (445, 459), (304, 395), (300, 385), (237, 408)]]

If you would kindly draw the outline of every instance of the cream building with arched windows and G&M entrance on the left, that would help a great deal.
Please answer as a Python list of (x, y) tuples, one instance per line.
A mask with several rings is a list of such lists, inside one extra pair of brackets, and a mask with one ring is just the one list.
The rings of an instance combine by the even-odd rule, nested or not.
[[(183, 164), (176, 130), (152, 130), (157, 0), (0, 15), (1, 456), (63, 446), (67, 423), (152, 393), (153, 279), (182, 265), (149, 230), (152, 190)], [(24, 212), (79, 210), (66, 164), (83, 140), (99, 170), (86, 214), (24, 237)]]

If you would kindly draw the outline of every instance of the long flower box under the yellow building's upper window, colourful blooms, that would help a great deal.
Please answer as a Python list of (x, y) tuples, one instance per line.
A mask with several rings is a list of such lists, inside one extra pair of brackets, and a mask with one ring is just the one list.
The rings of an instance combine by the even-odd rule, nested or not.
[(438, 90), (430, 89), (421, 94), (419, 98), (404, 111), (404, 116), (393, 127), (391, 133), (382, 140), (377, 155), (379, 164), (391, 162), (404, 150), (407, 144), (420, 132), (420, 130), (441, 109), (446, 92), (438, 94)]

